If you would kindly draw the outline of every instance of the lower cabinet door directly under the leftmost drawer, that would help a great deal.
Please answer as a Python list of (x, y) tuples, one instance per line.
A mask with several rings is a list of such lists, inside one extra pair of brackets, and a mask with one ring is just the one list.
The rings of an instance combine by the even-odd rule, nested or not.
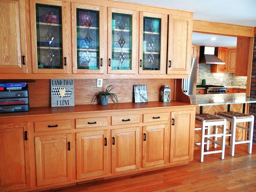
[(63, 183), (74, 178), (73, 134), (49, 134), (35, 137), (37, 186)]

